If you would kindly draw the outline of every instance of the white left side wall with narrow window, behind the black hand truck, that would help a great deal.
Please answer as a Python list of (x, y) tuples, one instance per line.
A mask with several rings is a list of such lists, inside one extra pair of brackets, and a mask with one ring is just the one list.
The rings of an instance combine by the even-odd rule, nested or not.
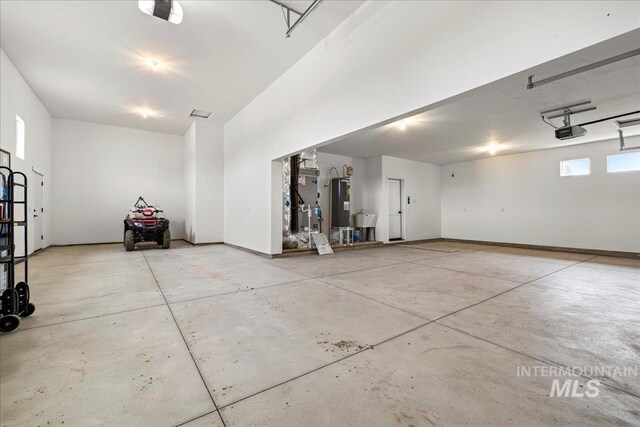
[[(51, 115), (47, 112), (27, 82), (22, 78), (5, 52), (0, 49), (0, 148), (11, 153), (11, 167), (33, 182), (33, 170), (44, 175), (43, 193), (43, 247), (52, 242), (51, 236)], [(16, 115), (25, 122), (25, 158), (15, 155)], [(28, 187), (28, 201), (33, 201), (33, 186)], [(33, 211), (28, 212), (29, 230), (33, 228)], [(33, 236), (33, 232), (31, 233)], [(23, 253), (21, 231), (16, 232), (17, 254)], [(33, 236), (38, 238), (39, 236)], [(33, 239), (29, 238), (29, 253)]]

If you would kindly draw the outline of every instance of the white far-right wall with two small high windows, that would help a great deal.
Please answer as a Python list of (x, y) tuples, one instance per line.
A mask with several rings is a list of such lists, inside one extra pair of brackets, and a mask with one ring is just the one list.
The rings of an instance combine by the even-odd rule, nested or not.
[[(640, 172), (606, 171), (618, 147), (611, 140), (442, 166), (443, 237), (640, 252)], [(560, 177), (561, 160), (584, 157), (590, 175)]]

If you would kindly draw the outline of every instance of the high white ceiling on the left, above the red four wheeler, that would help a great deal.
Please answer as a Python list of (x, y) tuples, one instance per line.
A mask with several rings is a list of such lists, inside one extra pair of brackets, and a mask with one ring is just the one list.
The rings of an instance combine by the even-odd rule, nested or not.
[(267, 0), (180, 0), (180, 25), (137, 1), (2, 0), (0, 46), (54, 117), (181, 135), (194, 108), (227, 122), (362, 3), (325, 1), (285, 39)]

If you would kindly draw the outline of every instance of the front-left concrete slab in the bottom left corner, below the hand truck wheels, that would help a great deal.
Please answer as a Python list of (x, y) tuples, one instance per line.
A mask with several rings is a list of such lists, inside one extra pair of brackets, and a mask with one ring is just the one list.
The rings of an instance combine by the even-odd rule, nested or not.
[(3, 426), (171, 425), (215, 409), (166, 306), (2, 336), (0, 371)]

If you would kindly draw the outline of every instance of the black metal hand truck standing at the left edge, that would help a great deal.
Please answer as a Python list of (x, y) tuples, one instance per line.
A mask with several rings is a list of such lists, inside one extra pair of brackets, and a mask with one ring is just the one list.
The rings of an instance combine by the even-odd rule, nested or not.
[[(17, 180), (16, 180), (17, 178)], [(16, 188), (22, 189), (22, 200), (16, 200)], [(20, 318), (36, 310), (29, 302), (29, 250), (27, 225), (27, 176), (0, 166), (0, 332), (13, 332)], [(16, 205), (23, 205), (24, 218), (16, 220)], [(24, 255), (16, 256), (15, 228), (24, 227)], [(24, 281), (16, 284), (16, 265), (24, 263)]]

